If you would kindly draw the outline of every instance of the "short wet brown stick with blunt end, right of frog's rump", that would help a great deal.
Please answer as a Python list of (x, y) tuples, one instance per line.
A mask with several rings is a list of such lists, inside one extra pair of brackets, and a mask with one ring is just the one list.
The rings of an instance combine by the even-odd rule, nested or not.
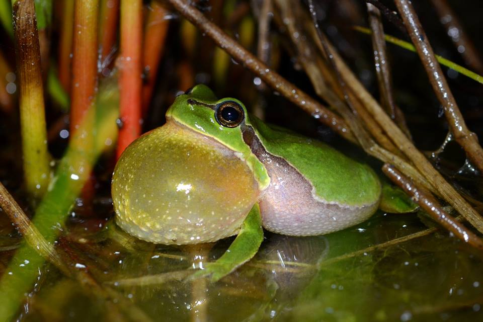
[(456, 237), (465, 243), (483, 249), (483, 242), (481, 239), (447, 213), (441, 207), (439, 202), (433, 198), (431, 193), (425, 192), (415, 186), (410, 180), (408, 180), (408, 178), (397, 171), (394, 166), (385, 164), (382, 167), (382, 172), (384, 172), (394, 184), (398, 185), (409, 194), (413, 200), (434, 219), (434, 221), (451, 231)]

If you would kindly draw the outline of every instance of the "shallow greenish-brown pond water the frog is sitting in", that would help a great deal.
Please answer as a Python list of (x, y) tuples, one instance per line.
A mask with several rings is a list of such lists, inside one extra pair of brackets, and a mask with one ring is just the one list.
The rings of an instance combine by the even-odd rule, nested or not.
[[(483, 318), (483, 252), (444, 231), (414, 237), (427, 229), (415, 214), (379, 212), (356, 227), (323, 236), (266, 232), (251, 262), (213, 284), (187, 278), (193, 268), (221, 256), (230, 238), (168, 247), (136, 240), (112, 219), (100, 224), (74, 216), (67, 227), (58, 247), (70, 255), (72, 270), (87, 272), (100, 288), (83, 286), (47, 265), (19, 311), (20, 320)], [(406, 241), (394, 240), (405, 236)], [(2, 262), (9, 253), (2, 253)]]

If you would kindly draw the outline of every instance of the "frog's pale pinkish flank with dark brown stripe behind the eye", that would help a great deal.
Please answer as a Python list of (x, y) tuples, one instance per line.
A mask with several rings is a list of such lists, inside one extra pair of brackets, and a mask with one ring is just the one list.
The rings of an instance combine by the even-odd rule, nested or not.
[(307, 178), (284, 158), (269, 153), (250, 125), (243, 123), (241, 131), (271, 178), (259, 201), (267, 230), (296, 236), (324, 234), (362, 222), (377, 209), (377, 203), (358, 207), (314, 198), (315, 189)]

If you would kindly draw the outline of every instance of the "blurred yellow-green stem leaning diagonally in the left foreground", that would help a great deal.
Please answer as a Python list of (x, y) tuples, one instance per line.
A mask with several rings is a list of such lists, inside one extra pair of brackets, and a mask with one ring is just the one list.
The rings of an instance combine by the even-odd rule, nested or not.
[[(117, 89), (99, 94), (98, 107), (91, 108), (73, 134), (61, 159), (51, 189), (35, 211), (32, 224), (48, 243), (61, 232), (62, 224), (76, 197), (88, 180), (101, 152), (116, 140)], [(92, 139), (89, 139), (92, 137)], [(106, 145), (111, 142), (111, 145)], [(16, 252), (0, 279), (0, 321), (11, 320), (39, 277), (45, 260), (37, 250), (24, 244)]]

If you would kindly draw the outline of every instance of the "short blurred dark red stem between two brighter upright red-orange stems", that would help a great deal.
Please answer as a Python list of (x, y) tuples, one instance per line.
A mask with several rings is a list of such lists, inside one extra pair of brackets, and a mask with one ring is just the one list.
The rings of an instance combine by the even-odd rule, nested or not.
[[(119, 0), (101, 0), (99, 21), (99, 45), (101, 46), (101, 64), (107, 67), (110, 63), (114, 45), (117, 40), (117, 22), (119, 19)], [(107, 59), (106, 59), (107, 58)]]

